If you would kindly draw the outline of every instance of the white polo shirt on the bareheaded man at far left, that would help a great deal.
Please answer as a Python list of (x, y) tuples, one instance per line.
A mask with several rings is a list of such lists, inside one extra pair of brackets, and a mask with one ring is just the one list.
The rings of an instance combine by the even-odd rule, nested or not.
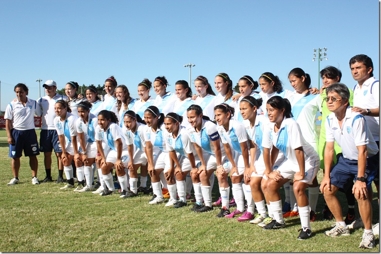
[(35, 114), (40, 116), (42, 111), (35, 100), (26, 98), (25, 106), (17, 101), (11, 101), (5, 109), (4, 119), (12, 120), (12, 128), (28, 130), (35, 128)]

